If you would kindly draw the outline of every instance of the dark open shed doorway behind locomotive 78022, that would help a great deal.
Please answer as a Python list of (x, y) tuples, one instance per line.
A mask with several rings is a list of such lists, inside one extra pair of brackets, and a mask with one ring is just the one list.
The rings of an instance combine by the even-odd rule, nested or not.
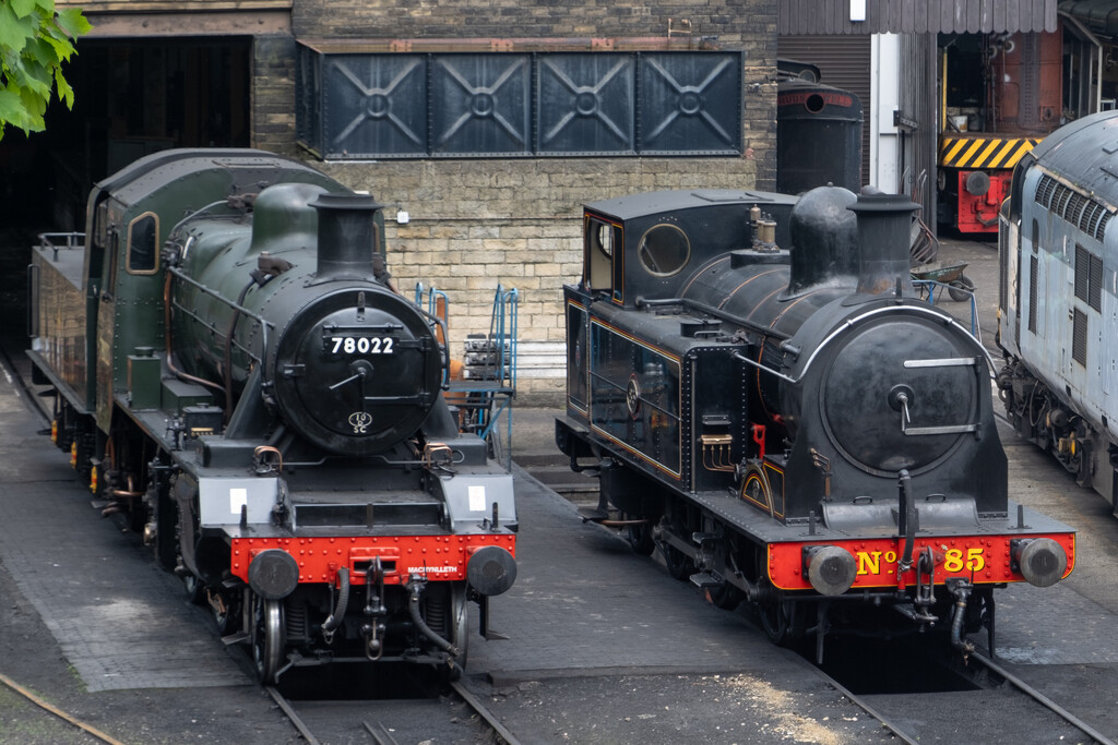
[(53, 102), (46, 132), (0, 141), (6, 235), (83, 230), (92, 185), (141, 155), (249, 144), (252, 38), (88, 39), (77, 52), (74, 109)]

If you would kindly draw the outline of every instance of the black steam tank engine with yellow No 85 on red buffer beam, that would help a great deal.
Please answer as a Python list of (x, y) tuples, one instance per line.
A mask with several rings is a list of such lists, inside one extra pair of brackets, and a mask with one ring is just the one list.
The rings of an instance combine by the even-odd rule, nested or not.
[[(909, 274), (917, 206), (822, 187), (595, 202), (563, 289), (571, 468), (589, 518), (773, 640), (938, 628), (1049, 586), (1071, 528), (1010, 499), (994, 361)], [(894, 612), (885, 612), (887, 610)]]

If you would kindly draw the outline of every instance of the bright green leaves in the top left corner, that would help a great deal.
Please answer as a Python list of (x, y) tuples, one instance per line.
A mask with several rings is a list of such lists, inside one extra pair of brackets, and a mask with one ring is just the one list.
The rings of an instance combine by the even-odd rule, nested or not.
[(9, 124), (23, 134), (46, 128), (42, 115), (55, 89), (74, 106), (61, 66), (91, 28), (77, 8), (56, 13), (54, 0), (0, 0), (0, 140)]

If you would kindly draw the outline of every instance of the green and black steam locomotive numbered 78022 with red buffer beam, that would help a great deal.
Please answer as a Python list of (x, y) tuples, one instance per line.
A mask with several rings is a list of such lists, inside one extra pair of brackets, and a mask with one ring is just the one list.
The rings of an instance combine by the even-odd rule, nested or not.
[(97, 183), (30, 271), (53, 438), (265, 682), (466, 658), (517, 574), (512, 477), (443, 397), (382, 206), (295, 160), (172, 150)]

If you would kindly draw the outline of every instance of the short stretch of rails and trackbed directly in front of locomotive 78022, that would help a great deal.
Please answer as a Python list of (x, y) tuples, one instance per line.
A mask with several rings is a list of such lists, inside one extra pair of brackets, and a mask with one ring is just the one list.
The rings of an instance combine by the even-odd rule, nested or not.
[[(366, 737), (377, 745), (462, 739), (462, 727), (470, 729), (470, 742), (520, 745), (520, 739), (479, 698), (459, 681), (449, 684), (451, 694), (429, 699), (294, 701), (277, 688), (265, 687), (300, 737), (311, 745), (332, 742), (359, 742)], [(325, 713), (325, 716), (324, 716)], [(388, 723), (388, 724), (386, 724)], [(401, 724), (402, 723), (402, 724)], [(416, 732), (408, 729), (416, 724)]]

